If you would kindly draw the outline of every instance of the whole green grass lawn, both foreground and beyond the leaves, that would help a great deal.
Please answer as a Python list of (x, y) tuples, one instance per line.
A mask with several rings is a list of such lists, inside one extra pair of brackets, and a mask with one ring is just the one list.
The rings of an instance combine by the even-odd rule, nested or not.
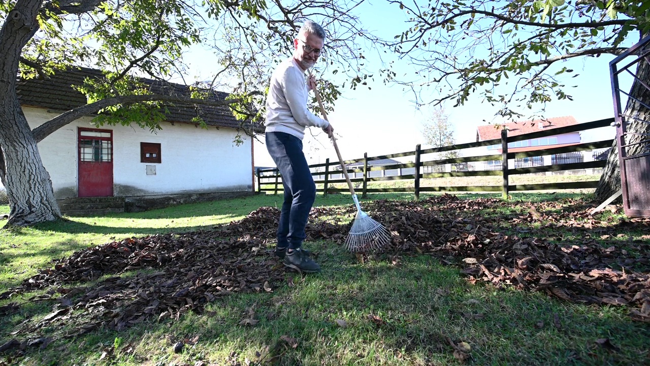
[[(408, 200), (413, 195), (370, 197), (384, 198)], [(522, 210), (549, 199), (558, 195), (513, 195)], [(0, 231), (0, 293), (51, 266), (51, 260), (88, 246), (211, 229), (261, 206), (279, 207), (281, 200), (281, 195), (257, 195)], [(350, 195), (318, 196), (316, 203), (350, 204)], [(469, 346), (464, 362), (474, 365), (648, 364), (650, 328), (630, 320), (623, 307), (471, 285), (459, 268), (428, 255), (359, 262), (330, 241), (308, 247), (317, 251), (320, 274), (287, 272), (287, 283), (272, 292), (224, 296), (208, 303), (201, 315), (154, 318), (125, 331), (99, 329), (70, 339), (54, 327), (11, 334), (25, 324), (38, 324), (55, 302), (30, 300), (46, 290), (0, 300), (0, 306), (21, 306), (6, 317), (0, 311), (0, 343), (52, 339), (44, 349), (39, 343), (27, 348), (25, 356), (0, 354), (0, 365), (453, 365), (461, 361), (451, 344), (461, 342)], [(241, 325), (251, 314), (259, 323)], [(75, 324), (64, 318), (60, 326), (66, 330)], [(183, 340), (183, 352), (175, 353), (175, 343)]]

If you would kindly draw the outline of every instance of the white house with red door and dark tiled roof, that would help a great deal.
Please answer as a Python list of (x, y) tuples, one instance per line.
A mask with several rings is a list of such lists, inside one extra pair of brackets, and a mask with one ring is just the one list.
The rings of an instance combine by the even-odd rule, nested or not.
[[(85, 105), (85, 96), (70, 87), (84, 77), (101, 77), (101, 72), (81, 68), (19, 81), (30, 127)], [(144, 81), (153, 92), (189, 95), (185, 85)], [(214, 98), (226, 96), (217, 92)], [(227, 107), (169, 106), (166, 116), (157, 132), (139, 126), (96, 128), (88, 116), (45, 137), (38, 148), (57, 200), (124, 197), (146, 207), (253, 193), (253, 139), (241, 132), (244, 143), (233, 142), (239, 121)], [(192, 121), (197, 116), (207, 130)]]

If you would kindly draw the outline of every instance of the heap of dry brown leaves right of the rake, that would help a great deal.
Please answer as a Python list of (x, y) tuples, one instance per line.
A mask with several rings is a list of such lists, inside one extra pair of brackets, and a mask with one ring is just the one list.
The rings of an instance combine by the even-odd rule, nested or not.
[[(650, 219), (599, 221), (589, 214), (593, 204), (580, 201), (485, 217), (504, 206), (517, 203), (443, 195), (420, 203), (378, 201), (371, 208), (373, 218), (396, 233), (393, 249), (459, 264), (470, 281), (543, 290), (570, 302), (627, 305), (634, 320), (650, 322)], [(642, 239), (633, 240), (630, 231)], [(621, 236), (627, 249), (620, 248)]]

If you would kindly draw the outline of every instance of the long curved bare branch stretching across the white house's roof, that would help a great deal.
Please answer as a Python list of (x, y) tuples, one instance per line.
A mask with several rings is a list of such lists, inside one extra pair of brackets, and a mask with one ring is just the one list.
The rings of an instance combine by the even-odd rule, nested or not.
[[(250, 92), (248, 96), (252, 95), (261, 95), (261, 92)], [(242, 102), (244, 98), (236, 98), (229, 100), (204, 100), (197, 98), (183, 98), (181, 96), (171, 96), (171, 95), (161, 95), (161, 94), (147, 94), (147, 95), (125, 95), (125, 96), (115, 96), (112, 98), (106, 98), (98, 100), (97, 102), (86, 104), (85, 106), (77, 107), (66, 111), (57, 117), (45, 122), (44, 124), (34, 128), (32, 134), (36, 142), (42, 141), (52, 132), (59, 130), (59, 128), (73, 122), (74, 120), (80, 119), (85, 115), (92, 115), (97, 113), (105, 107), (114, 106), (116, 104), (132, 104), (138, 102), (174, 102), (178, 104), (199, 104), (201, 106), (209, 107), (219, 107), (227, 106), (228, 104)]]

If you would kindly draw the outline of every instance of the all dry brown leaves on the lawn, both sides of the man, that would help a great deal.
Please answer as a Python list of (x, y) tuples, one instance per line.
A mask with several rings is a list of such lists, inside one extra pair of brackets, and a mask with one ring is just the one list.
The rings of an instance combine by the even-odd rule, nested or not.
[[(496, 215), (500, 208), (515, 208), (517, 203), (442, 195), (420, 202), (375, 201), (365, 206), (393, 232), (389, 252), (434, 255), (460, 265), (472, 282), (542, 290), (571, 302), (627, 306), (634, 320), (650, 322), (650, 236), (646, 234), (650, 220), (598, 221), (588, 214), (593, 205), (580, 201), (541, 203), (501, 216)], [(486, 218), (486, 210), (496, 216)], [(353, 215), (353, 206), (314, 208), (308, 240), (340, 244), (351, 223), (319, 218)], [(0, 294), (0, 299), (49, 289), (47, 295), (32, 300), (55, 300), (53, 313), (33, 329), (19, 331), (33, 331), (83, 310), (85, 322), (77, 318), (79, 326), (70, 336), (99, 326), (120, 330), (151, 317), (200, 313), (205, 303), (219, 296), (270, 292), (284, 281), (282, 266), (266, 248), (275, 237), (278, 218), (279, 210), (265, 207), (213, 231), (129, 238), (88, 248)], [(642, 240), (630, 238), (625, 241), (627, 249), (620, 249), (620, 236), (630, 230), (645, 235)], [(612, 245), (603, 246), (597, 239)], [(123, 275), (140, 269), (147, 270)], [(107, 275), (92, 287), (70, 285)], [(0, 307), (0, 316), (15, 311), (18, 305), (10, 303)]]

